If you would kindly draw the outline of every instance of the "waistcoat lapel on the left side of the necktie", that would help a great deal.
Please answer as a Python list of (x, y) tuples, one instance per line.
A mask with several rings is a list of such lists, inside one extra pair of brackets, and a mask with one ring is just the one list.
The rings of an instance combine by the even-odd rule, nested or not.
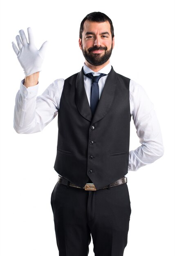
[(89, 102), (88, 102), (88, 97), (85, 91), (83, 67), (77, 75), (75, 88), (76, 88), (76, 92), (75, 92), (76, 106), (80, 114), (88, 121), (91, 121), (92, 112), (91, 112)]

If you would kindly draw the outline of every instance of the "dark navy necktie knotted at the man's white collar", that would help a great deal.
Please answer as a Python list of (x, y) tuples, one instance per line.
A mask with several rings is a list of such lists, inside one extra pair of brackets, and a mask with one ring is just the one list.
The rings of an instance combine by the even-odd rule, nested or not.
[(88, 76), (92, 79), (92, 87), (91, 87), (91, 97), (90, 97), (90, 108), (92, 111), (92, 115), (94, 115), (96, 106), (99, 102), (99, 79), (102, 76), (106, 76), (106, 74), (101, 73), (99, 76), (93, 76), (92, 73), (85, 74), (85, 76)]

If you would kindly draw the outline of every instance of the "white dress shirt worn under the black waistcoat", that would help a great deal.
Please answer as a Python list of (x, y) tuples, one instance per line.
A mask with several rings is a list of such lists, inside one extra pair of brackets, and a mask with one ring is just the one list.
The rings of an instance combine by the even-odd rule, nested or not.
[[(87, 65), (83, 65), (85, 74), (92, 72), (108, 74), (111, 65), (108, 64), (99, 72), (93, 72)], [(108, 75), (107, 75), (108, 76)], [(99, 80), (99, 98), (105, 85), (107, 76)], [(40, 132), (58, 114), (64, 79), (57, 79), (37, 97), (38, 86), (26, 88), (20, 83), (20, 90), (16, 95), (14, 109), (14, 129), (18, 133)], [(85, 91), (90, 104), (91, 79), (84, 75)], [(133, 80), (130, 80), (130, 114), (135, 124), (141, 146), (129, 153), (128, 171), (137, 171), (141, 166), (155, 162), (164, 153), (161, 130), (156, 117), (153, 103), (145, 90)]]

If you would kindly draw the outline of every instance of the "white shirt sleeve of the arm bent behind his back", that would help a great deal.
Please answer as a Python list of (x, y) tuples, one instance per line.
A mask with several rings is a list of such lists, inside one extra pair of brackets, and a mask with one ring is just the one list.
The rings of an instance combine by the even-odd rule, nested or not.
[(141, 146), (129, 153), (128, 171), (137, 171), (164, 154), (162, 134), (154, 110), (144, 88), (130, 80), (130, 111)]

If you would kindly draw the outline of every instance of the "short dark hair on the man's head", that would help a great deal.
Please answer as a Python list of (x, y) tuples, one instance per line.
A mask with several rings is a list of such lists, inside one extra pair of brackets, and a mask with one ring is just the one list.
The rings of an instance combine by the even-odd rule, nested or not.
[(99, 22), (99, 23), (109, 21), (112, 38), (114, 37), (114, 27), (112, 25), (112, 20), (105, 13), (102, 13), (100, 11), (94, 11), (94, 12), (89, 13), (88, 15), (86, 15), (85, 18), (81, 22), (80, 33), (79, 33), (79, 37), (81, 39), (82, 39), (82, 33), (83, 33), (83, 25), (84, 25), (86, 20), (95, 21), (95, 22)]

